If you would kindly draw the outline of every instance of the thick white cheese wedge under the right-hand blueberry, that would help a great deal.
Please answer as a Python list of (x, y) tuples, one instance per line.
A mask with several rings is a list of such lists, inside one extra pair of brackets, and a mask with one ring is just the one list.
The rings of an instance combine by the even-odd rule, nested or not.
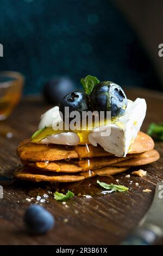
[[(89, 141), (95, 147), (101, 145), (104, 150), (115, 156), (126, 156), (131, 142), (134, 141), (146, 115), (145, 99), (128, 100), (126, 113), (118, 118), (117, 125), (110, 124), (110, 136), (101, 136), (101, 127), (96, 127), (89, 135)], [(121, 125), (122, 123), (122, 125)]]

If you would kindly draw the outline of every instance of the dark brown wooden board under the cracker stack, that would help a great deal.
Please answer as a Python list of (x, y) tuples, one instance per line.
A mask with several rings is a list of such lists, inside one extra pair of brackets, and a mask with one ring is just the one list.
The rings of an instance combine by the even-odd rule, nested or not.
[[(149, 123), (163, 121), (163, 95), (152, 91), (134, 88), (127, 90), (129, 99), (137, 96), (145, 97), (147, 115), (142, 131), (147, 130)], [(0, 136), (0, 173), (12, 174), (20, 164), (16, 156), (16, 147), (24, 138), (28, 138), (37, 129), (41, 113), (49, 107), (39, 97), (28, 97), (17, 106), (11, 117), (2, 126), (8, 127), (13, 137)], [(4, 129), (3, 129), (4, 130)], [(0, 199), (0, 244), (1, 245), (115, 245), (126, 237), (132, 228), (141, 220), (152, 202), (155, 185), (163, 180), (163, 143), (157, 142), (155, 148), (161, 159), (153, 164), (143, 166), (147, 176), (139, 178), (126, 174), (116, 175), (120, 184), (129, 186), (127, 193), (112, 193), (103, 197), (91, 199), (75, 197), (68, 200), (67, 206), (53, 199), (43, 206), (55, 216), (55, 227), (46, 235), (31, 236), (24, 228), (23, 215), (27, 206), (35, 203), (30, 198), (29, 191), (37, 187), (36, 194), (47, 193), (41, 185), (29, 183), (13, 183), (3, 186), (4, 196)], [(129, 181), (133, 183), (129, 185)], [(136, 186), (138, 182), (140, 186)], [(142, 192), (149, 188), (150, 193)], [(30, 193), (31, 194), (31, 193)], [(159, 213), (158, 213), (159, 214)], [(65, 220), (66, 219), (66, 220)]]

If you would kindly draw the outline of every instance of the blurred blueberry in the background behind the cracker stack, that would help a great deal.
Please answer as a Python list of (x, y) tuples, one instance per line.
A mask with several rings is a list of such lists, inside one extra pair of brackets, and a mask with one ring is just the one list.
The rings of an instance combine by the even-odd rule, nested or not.
[(76, 90), (73, 81), (68, 77), (53, 77), (43, 87), (43, 95), (48, 103), (58, 105), (62, 98)]

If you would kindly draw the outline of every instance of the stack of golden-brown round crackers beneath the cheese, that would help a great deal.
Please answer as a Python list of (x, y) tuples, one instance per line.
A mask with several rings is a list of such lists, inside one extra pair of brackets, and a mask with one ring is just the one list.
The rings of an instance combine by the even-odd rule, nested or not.
[(117, 157), (102, 147), (35, 144), (23, 141), (17, 148), (23, 167), (18, 179), (29, 181), (73, 182), (92, 176), (114, 175), (159, 159), (151, 137), (139, 132), (126, 157)]

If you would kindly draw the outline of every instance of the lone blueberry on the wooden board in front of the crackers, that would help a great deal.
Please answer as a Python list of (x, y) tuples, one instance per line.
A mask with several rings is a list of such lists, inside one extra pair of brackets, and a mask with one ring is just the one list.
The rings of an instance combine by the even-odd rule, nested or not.
[(24, 222), (30, 233), (43, 234), (53, 228), (54, 217), (45, 208), (33, 204), (26, 210)]

